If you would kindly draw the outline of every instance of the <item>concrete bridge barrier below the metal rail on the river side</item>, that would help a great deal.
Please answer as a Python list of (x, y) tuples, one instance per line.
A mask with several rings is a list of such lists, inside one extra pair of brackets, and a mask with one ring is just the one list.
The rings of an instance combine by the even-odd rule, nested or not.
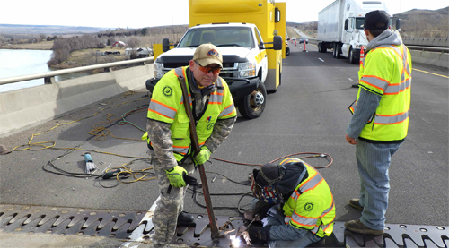
[(0, 93), (0, 137), (66, 115), (92, 103), (145, 87), (153, 64), (139, 65)]

